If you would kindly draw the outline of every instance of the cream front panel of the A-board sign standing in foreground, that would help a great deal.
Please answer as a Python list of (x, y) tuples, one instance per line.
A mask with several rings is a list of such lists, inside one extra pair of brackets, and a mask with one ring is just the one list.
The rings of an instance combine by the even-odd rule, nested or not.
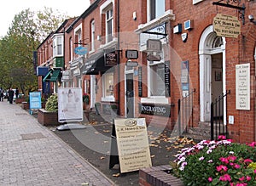
[(120, 172), (152, 166), (145, 118), (114, 120)]

